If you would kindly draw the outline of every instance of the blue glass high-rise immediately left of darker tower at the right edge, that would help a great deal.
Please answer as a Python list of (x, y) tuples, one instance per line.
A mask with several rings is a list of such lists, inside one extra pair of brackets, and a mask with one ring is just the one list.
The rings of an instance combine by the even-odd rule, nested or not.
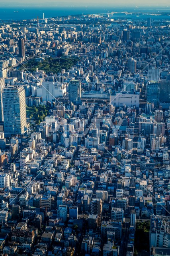
[(147, 102), (154, 103), (154, 107), (159, 106), (160, 83), (150, 81), (147, 85)]

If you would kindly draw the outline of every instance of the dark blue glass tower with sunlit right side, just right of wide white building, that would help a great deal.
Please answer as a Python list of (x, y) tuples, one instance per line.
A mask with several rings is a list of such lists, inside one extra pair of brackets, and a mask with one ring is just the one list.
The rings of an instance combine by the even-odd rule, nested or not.
[(69, 101), (73, 102), (75, 105), (81, 103), (82, 98), (82, 83), (80, 80), (72, 79), (68, 84), (68, 97)]

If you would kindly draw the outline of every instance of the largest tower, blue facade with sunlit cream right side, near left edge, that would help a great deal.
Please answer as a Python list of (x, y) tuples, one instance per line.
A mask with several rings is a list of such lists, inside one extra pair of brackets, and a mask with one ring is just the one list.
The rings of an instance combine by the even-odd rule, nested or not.
[(23, 136), (26, 127), (25, 90), (23, 86), (9, 86), (2, 92), (4, 134)]

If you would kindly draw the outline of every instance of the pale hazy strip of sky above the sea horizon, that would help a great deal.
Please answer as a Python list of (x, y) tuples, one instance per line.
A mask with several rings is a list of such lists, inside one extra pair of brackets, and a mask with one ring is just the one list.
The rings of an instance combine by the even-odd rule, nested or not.
[(28, 7), (31, 7), (31, 6), (49, 6), (49, 7), (52, 7), (52, 6), (102, 6), (102, 7), (107, 7), (107, 6), (116, 6), (116, 7), (131, 7), (131, 6), (138, 6), (138, 8), (140, 7), (144, 7), (144, 6), (150, 6), (150, 7), (170, 7), (170, 2), (169, 0), (115, 0), (113, 2), (113, 0), (107, 0), (106, 2), (104, 2), (103, 0), (83, 0), (83, 1), (80, 1), (80, 0), (16, 0), (16, 1), (12, 1), (12, 0), (2, 0), (3, 2), (0, 1), (0, 6), (3, 6), (3, 7), (12, 7), (12, 6), (17, 6), (17, 5), (20, 5), (20, 6), (28, 6)]

